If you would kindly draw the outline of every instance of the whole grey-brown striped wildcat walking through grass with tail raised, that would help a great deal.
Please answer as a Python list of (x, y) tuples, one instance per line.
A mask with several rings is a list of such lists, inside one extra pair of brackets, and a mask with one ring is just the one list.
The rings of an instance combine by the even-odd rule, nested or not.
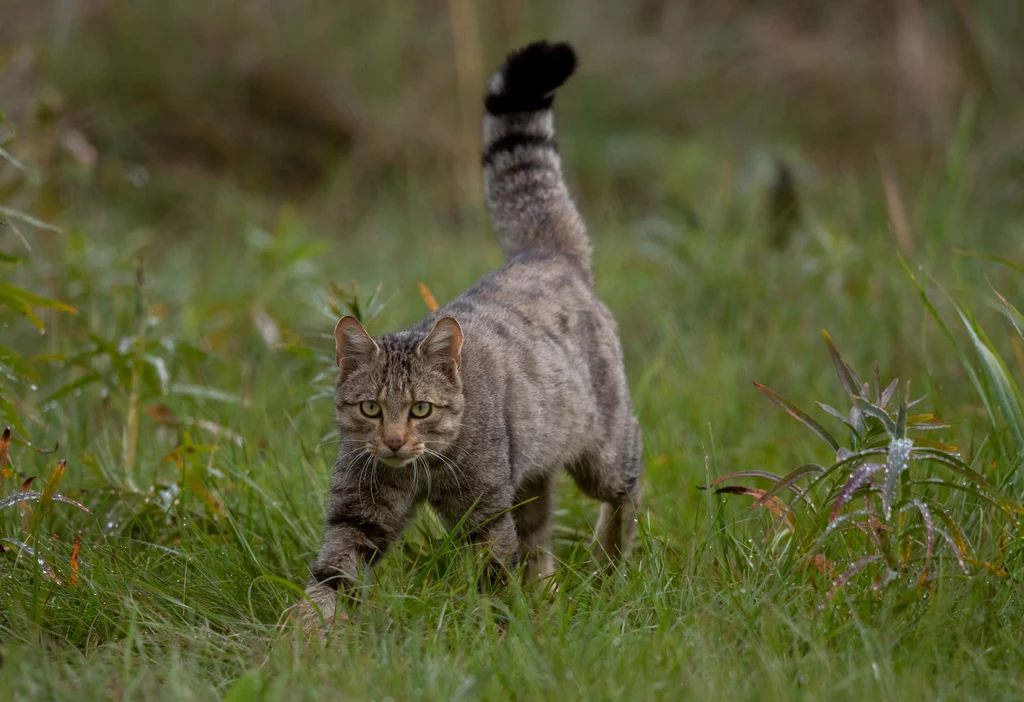
[[(509, 54), (483, 118), (487, 207), (508, 262), (409, 328), (335, 328), (341, 433), (324, 544), (300, 605), (330, 623), (337, 590), (429, 502), (464, 517), (499, 569), (551, 575), (552, 494), (564, 467), (601, 500), (598, 557), (628, 551), (643, 449), (615, 322), (593, 289), (590, 243), (561, 171), (554, 91), (574, 72), (565, 43)], [(514, 509), (513, 509), (514, 508)]]

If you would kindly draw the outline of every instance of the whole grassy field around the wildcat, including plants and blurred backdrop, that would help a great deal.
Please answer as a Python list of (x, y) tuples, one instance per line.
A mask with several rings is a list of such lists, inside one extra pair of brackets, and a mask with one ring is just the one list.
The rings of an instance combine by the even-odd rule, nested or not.
[[(0, 9), (0, 699), (1024, 696), (1014, 3), (29, 4)], [(595, 575), (566, 479), (557, 591), (482, 593), (424, 512), (309, 640), (334, 322), (501, 265), (479, 94), (542, 35), (583, 57), (559, 144), (644, 430), (637, 553)]]

